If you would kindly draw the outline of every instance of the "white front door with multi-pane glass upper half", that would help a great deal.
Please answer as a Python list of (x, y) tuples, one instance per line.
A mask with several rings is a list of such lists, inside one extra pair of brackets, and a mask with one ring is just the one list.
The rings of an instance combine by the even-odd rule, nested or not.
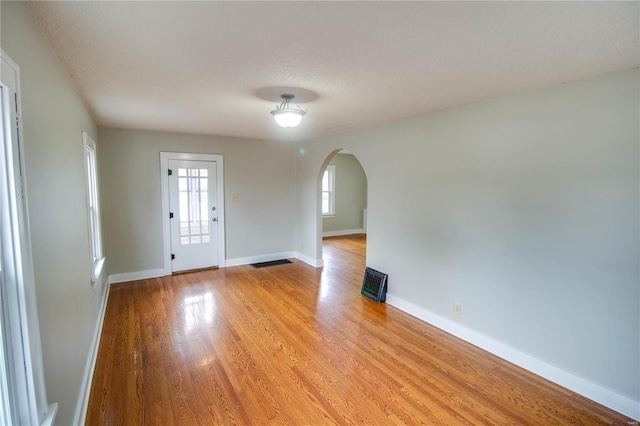
[(172, 272), (218, 266), (216, 162), (169, 160)]

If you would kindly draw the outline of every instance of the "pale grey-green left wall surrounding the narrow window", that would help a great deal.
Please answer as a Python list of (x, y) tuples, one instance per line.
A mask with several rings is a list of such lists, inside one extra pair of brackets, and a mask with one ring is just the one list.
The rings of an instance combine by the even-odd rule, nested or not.
[[(102, 284), (91, 287), (82, 131), (97, 130), (24, 2), (1, 2), (2, 49), (20, 66), (29, 220), (49, 402), (70, 424)], [(99, 150), (99, 148), (98, 148)]]

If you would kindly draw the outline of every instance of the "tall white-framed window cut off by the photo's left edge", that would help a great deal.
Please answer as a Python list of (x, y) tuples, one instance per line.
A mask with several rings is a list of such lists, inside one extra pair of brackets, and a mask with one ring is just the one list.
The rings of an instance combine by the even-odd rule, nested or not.
[[(29, 230), (20, 113), (20, 68), (0, 52), (3, 95), (0, 133), (1, 421), (50, 426), (58, 404), (47, 404)], [(7, 89), (5, 91), (5, 89)], [(6, 126), (10, 123), (9, 126)]]

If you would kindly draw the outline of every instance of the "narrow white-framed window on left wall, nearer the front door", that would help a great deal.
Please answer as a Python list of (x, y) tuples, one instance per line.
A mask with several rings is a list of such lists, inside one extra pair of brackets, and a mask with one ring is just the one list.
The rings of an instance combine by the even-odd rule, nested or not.
[(102, 254), (102, 232), (100, 226), (100, 204), (98, 196), (98, 167), (96, 143), (86, 132), (82, 133), (85, 153), (85, 169), (87, 178), (87, 218), (89, 224), (89, 245), (91, 248), (91, 264), (95, 283), (100, 277), (104, 256)]

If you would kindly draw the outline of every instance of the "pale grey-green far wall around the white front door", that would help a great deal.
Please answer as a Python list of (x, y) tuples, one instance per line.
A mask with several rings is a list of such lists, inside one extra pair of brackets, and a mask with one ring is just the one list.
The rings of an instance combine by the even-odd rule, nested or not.
[(224, 156), (227, 259), (294, 251), (291, 143), (106, 128), (99, 132), (110, 275), (164, 267), (161, 151)]

